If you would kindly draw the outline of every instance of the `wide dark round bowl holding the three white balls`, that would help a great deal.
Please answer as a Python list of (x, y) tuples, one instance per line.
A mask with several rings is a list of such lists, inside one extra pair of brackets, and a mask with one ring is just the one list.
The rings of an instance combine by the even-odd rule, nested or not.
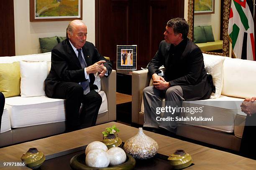
[(126, 161), (120, 165), (116, 165), (113, 167), (106, 167), (106, 168), (94, 168), (89, 167), (85, 164), (85, 154), (77, 154), (70, 160), (70, 167), (72, 170), (132, 170), (135, 167), (135, 159), (126, 154)]

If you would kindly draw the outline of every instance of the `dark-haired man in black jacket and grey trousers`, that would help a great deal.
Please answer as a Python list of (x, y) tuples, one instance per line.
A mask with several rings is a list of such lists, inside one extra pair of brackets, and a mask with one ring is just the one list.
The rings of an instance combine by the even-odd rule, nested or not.
[[(202, 51), (187, 38), (188, 24), (184, 18), (169, 20), (164, 32), (164, 41), (148, 65), (148, 74), (153, 86), (143, 90), (144, 127), (164, 128), (175, 133), (176, 121), (160, 121), (161, 100), (166, 106), (181, 107), (183, 100), (202, 100), (210, 97), (212, 87), (207, 75)], [(164, 77), (158, 75), (164, 65)], [(158, 108), (157, 108), (158, 107)], [(176, 117), (178, 112), (165, 112), (160, 117)]]

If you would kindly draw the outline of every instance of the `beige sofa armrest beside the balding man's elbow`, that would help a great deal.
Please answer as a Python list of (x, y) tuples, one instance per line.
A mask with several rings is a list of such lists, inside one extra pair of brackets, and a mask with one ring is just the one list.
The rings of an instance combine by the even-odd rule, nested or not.
[(100, 77), (101, 90), (108, 100), (108, 121), (116, 120), (116, 71), (112, 70), (108, 77)]

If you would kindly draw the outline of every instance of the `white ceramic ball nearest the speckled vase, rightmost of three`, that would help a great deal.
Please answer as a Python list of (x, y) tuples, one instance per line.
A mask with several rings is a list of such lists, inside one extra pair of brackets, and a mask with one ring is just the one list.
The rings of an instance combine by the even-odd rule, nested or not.
[(111, 166), (122, 164), (126, 160), (126, 154), (122, 148), (113, 147), (110, 148), (107, 153), (110, 159)]

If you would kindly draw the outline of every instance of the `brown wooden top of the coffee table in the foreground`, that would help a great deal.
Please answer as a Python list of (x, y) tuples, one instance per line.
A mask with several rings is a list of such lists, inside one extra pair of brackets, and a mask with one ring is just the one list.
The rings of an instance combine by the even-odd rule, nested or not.
[[(40, 140), (34, 140), (27, 143), (13, 145), (0, 149), (0, 162), (20, 161), (23, 153), (26, 153), (28, 148), (37, 148), (45, 155), (53, 155), (66, 150), (82, 147), (95, 140), (102, 140), (101, 132), (106, 127), (116, 125), (123, 141), (136, 135), (138, 128), (133, 128), (117, 122), (109, 122), (102, 125), (97, 125), (91, 128), (77, 130), (71, 133), (52, 136)], [(231, 153), (226, 153), (220, 150), (207, 148), (194, 143), (185, 142), (175, 138), (170, 138), (164, 135), (144, 131), (144, 133), (159, 144), (159, 151), (163, 155), (170, 155), (177, 149), (185, 150), (192, 155), (193, 163), (195, 165), (186, 168), (186, 170), (255, 170), (256, 160), (251, 160)], [(29, 135), (29, 134), (26, 134)], [(221, 140), (221, 139), (220, 139)], [(1, 169), (1, 168), (0, 168)], [(25, 170), (26, 167), (9, 167), (3, 168), (8, 170)]]

